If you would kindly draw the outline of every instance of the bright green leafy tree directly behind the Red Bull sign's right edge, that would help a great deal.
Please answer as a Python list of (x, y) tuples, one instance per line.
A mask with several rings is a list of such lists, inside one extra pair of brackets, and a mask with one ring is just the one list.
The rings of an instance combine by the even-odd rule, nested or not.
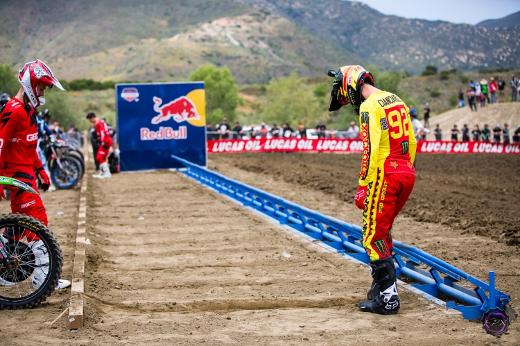
[(239, 88), (227, 67), (218, 69), (213, 65), (201, 66), (191, 72), (189, 80), (204, 81), (207, 121), (220, 123), (223, 117), (230, 123), (234, 121)]

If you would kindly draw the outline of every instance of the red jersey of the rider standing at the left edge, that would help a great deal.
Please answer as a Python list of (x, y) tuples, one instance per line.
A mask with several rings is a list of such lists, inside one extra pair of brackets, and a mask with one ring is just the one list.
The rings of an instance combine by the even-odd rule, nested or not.
[(0, 114), (0, 169), (4, 164), (24, 165), (39, 168), (36, 146), (38, 128), (36, 112), (31, 105), (17, 98), (6, 103)]

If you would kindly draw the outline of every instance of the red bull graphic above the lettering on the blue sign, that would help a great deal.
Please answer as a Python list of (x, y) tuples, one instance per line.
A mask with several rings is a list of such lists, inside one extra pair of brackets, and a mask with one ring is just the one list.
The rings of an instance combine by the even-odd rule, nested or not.
[(198, 114), (193, 101), (191, 101), (186, 96), (175, 98), (175, 100), (164, 105), (161, 105), (162, 98), (153, 96), (153, 102), (153, 110), (159, 113), (159, 115), (153, 117), (153, 124), (162, 123), (163, 121), (167, 121), (170, 118), (173, 118), (173, 120), (177, 121), (177, 123), (182, 123), (182, 121), (187, 120), (200, 119), (200, 115)]

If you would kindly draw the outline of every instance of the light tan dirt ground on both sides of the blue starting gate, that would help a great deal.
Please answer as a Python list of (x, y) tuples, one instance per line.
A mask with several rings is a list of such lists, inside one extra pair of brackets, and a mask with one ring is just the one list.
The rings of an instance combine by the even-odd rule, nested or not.
[[(335, 160), (340, 156), (329, 155)], [(248, 162), (239, 155), (210, 156), (210, 160), (210, 168), (218, 166), (220, 173), (232, 178), (347, 222), (360, 221), (354, 205), (311, 184), (287, 182), (283, 173), (277, 177), (239, 169), (235, 164)], [(309, 168), (314, 163), (306, 164)], [(492, 338), (480, 323), (448, 314), (451, 311), (404, 290), (399, 315), (359, 313), (355, 304), (370, 284), (365, 266), (293, 235), (181, 173), (89, 180), (87, 235), (92, 245), (87, 246), (85, 328), (69, 331), (65, 318), (55, 328), (45, 324), (67, 306), (67, 290), (33, 311), (0, 311), (2, 345), (519, 343), (517, 322), (510, 334)], [(67, 261), (73, 252), (72, 238), (67, 236), (75, 231), (67, 227), (76, 223), (77, 191), (58, 191), (44, 198)], [(68, 217), (56, 216), (58, 210)], [(486, 270), (494, 268), (497, 285), (512, 294), (514, 306), (518, 304), (516, 246), (412, 218), (399, 218), (395, 228), (397, 239), (415, 243), (478, 277), (485, 278)], [(489, 243), (492, 247), (487, 247)], [(282, 257), (284, 251), (292, 257)], [(68, 278), (70, 268), (65, 273)], [(390, 325), (396, 330), (390, 331)]]

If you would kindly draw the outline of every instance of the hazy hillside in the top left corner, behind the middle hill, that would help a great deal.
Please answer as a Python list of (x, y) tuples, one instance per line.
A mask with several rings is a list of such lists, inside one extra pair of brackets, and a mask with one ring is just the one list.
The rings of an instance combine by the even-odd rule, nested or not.
[(250, 8), (229, 0), (3, 0), (0, 61), (51, 64), (141, 39), (172, 37)]

